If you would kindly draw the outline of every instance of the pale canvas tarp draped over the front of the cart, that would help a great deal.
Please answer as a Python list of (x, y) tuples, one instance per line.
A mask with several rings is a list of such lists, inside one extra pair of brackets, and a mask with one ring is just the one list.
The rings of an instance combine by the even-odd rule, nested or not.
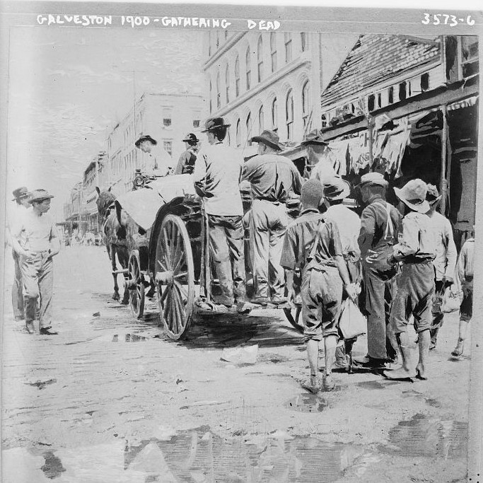
[(195, 194), (192, 175), (165, 176), (151, 182), (148, 188), (122, 194), (116, 199), (116, 204), (148, 231), (161, 206), (185, 194)]

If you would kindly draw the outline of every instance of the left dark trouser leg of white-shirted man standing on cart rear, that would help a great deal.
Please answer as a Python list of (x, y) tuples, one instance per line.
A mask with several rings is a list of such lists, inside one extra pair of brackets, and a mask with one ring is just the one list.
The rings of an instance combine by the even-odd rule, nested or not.
[(233, 298), (233, 280), (231, 278), (230, 255), (226, 243), (225, 228), (221, 225), (220, 217), (208, 215), (209, 223), (209, 248), (211, 260), (213, 260), (216, 276), (223, 295)]

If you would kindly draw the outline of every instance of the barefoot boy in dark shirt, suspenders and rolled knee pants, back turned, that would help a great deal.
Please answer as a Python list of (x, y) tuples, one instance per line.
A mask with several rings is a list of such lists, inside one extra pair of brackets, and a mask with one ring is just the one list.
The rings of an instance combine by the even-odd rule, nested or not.
[(293, 270), (301, 270), (302, 318), (310, 366), (310, 380), (303, 383), (303, 388), (318, 392), (319, 342), (323, 339), (325, 347), (323, 385), (325, 390), (333, 390), (332, 365), (339, 339), (337, 320), (342, 284), (353, 300), (357, 291), (350, 283), (337, 226), (331, 220), (324, 221), (318, 210), (323, 198), (322, 185), (317, 180), (308, 180), (301, 191), (301, 214), (287, 228), (280, 263), (287, 271), (292, 299), (295, 298)]

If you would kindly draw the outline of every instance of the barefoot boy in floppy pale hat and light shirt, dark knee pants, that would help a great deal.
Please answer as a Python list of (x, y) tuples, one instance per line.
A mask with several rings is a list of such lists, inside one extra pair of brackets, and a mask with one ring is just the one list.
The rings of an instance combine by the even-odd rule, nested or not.
[[(405, 204), (406, 211), (402, 219), (402, 236), (388, 259), (393, 264), (402, 262), (402, 272), (397, 279), (397, 297), (390, 314), (390, 324), (402, 356), (402, 367), (385, 376), (389, 379), (417, 377), (426, 380), (434, 294), (433, 260), (436, 257), (436, 240), (431, 219), (427, 215), (428, 187), (418, 179), (394, 191)], [(407, 333), (411, 315), (414, 316), (414, 328), (418, 334), (419, 362), (416, 368), (411, 366), (411, 340)]]

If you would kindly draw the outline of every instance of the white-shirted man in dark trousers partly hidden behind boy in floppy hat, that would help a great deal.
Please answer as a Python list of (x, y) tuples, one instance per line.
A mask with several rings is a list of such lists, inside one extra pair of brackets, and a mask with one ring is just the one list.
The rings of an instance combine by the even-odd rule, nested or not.
[(446, 287), (453, 284), (453, 274), (455, 273), (456, 252), (455, 241), (453, 240), (453, 229), (450, 221), (441, 213), (436, 211), (441, 195), (436, 186), (428, 185), (426, 200), (429, 203), (428, 216), (431, 219), (433, 233), (436, 237), (436, 258), (434, 268), (436, 270), (435, 291), (433, 298), (433, 323), (431, 324), (431, 344), (429, 350), (436, 349), (438, 330), (443, 325), (444, 314), (441, 312), (441, 303)]

